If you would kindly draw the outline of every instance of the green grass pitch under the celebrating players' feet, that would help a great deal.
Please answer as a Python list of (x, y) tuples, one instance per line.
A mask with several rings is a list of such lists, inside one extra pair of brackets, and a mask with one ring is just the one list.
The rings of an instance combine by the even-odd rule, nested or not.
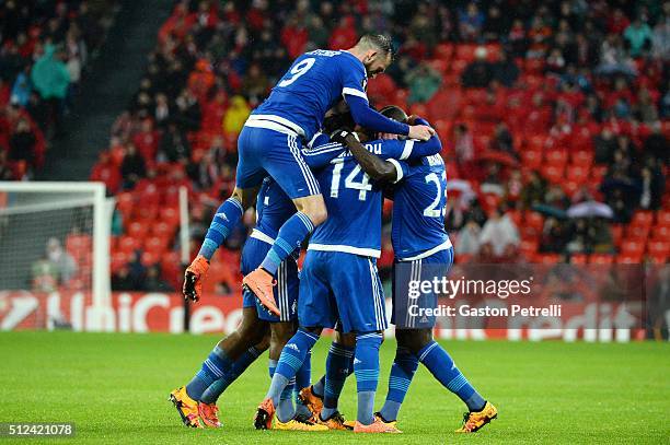
[[(670, 443), (666, 343), (444, 342), (465, 376), (498, 407), (498, 419), (477, 434), (454, 434), (464, 407), (419, 367), (401, 411), (404, 434), (371, 436), (253, 430), (255, 407), (268, 385), (266, 355), (219, 400), (222, 429), (184, 428), (168, 395), (188, 382), (216, 341), (212, 336), (2, 332), (0, 422), (71, 421), (77, 442), (107, 444)], [(323, 372), (328, 343), (322, 339), (316, 346), (313, 378)], [(378, 407), (394, 346), (389, 340), (382, 347)], [(354, 418), (355, 407), (350, 378), (340, 408)]]

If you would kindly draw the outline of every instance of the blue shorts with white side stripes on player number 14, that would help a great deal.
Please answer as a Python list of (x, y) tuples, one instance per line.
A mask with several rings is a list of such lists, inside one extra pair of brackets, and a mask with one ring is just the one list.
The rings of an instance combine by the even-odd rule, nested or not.
[(389, 326), (377, 260), (340, 251), (308, 250), (300, 277), (298, 320), (303, 327), (370, 332)]

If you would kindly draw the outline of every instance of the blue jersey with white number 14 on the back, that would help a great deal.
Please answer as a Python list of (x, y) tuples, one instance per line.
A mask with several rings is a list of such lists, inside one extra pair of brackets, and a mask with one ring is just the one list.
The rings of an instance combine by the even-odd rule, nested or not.
[[(379, 258), (381, 255), (382, 189), (362, 171), (351, 153), (342, 144), (319, 134), (313, 149), (302, 151), (323, 191), (328, 218), (319, 225), (309, 249), (344, 251)], [(397, 178), (408, 169), (397, 160), (416, 159), (417, 153), (437, 153), (438, 138), (426, 142), (376, 140), (363, 144), (368, 151), (392, 161)]]

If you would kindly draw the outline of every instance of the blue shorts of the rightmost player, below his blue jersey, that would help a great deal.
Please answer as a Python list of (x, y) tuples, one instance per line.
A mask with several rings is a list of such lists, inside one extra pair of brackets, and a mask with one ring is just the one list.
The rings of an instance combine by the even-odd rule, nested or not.
[[(396, 325), (396, 328), (431, 329), (435, 327), (434, 315), (413, 315), (416, 314), (416, 311), (409, 311), (409, 307), (415, 305), (421, 308), (435, 308), (438, 304), (438, 295), (429, 292), (421, 293), (418, 298), (413, 298), (406, 291), (406, 283), (408, 280), (432, 281), (436, 277), (447, 277), (452, 265), (453, 247), (437, 251), (426, 258), (412, 261), (398, 261), (396, 259), (393, 262), (393, 296), (391, 298), (393, 311), (391, 311), (391, 323)], [(400, 291), (401, 285), (402, 291)]]

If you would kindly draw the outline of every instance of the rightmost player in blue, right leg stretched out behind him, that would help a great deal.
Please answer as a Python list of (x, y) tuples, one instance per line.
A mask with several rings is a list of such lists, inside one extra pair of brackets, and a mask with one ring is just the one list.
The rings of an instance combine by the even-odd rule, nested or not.
[[(402, 109), (397, 108), (396, 112), (396, 118), (406, 119)], [(412, 120), (428, 125), (420, 118), (413, 117)], [(353, 155), (372, 178), (383, 179), (389, 175), (389, 166), (381, 159), (370, 155), (353, 136), (347, 134), (345, 140)], [(394, 203), (391, 238), (395, 254), (394, 266), (407, 265), (412, 268), (415, 279), (431, 280), (434, 276), (423, 273), (421, 269), (423, 265), (431, 265), (430, 272), (439, 270), (443, 277), (453, 262), (453, 247), (444, 230), (444, 162), (439, 154), (409, 162), (404, 165), (401, 179), (392, 188)], [(397, 304), (398, 297), (393, 294), (394, 305)], [(428, 297), (426, 307), (435, 307), (437, 295)], [(420, 362), (466, 405), (469, 412), (457, 432), (478, 431), (497, 418), (497, 409), (473, 388), (449, 353), (432, 339), (435, 317), (421, 320), (418, 328), (415, 318), (407, 314), (404, 326), (408, 328), (396, 327), (397, 349), (391, 367), (389, 393), (383, 408), (376, 413), (377, 417), (389, 425), (396, 425), (401, 405)]]

